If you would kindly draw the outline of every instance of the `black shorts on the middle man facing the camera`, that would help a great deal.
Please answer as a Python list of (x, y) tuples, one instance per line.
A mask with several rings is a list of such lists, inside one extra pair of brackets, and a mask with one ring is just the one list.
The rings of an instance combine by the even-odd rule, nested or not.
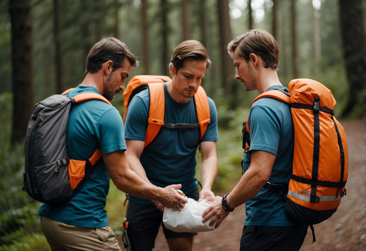
[[(188, 198), (198, 200), (198, 190), (186, 194)], [(128, 221), (127, 235), (131, 250), (152, 250), (160, 225), (163, 226), (165, 238), (179, 238), (197, 235), (197, 233), (177, 233), (165, 228), (163, 212), (154, 204), (137, 204), (128, 201), (126, 218)]]

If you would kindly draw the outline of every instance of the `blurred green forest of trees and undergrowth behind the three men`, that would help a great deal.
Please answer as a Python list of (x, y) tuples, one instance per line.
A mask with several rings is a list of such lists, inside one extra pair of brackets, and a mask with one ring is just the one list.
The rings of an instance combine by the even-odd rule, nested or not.
[[(220, 133), (214, 190), (227, 191), (242, 172), (236, 135), (258, 93), (234, 79), (225, 45), (252, 28), (269, 31), (279, 43), (283, 85), (318, 80), (332, 90), (337, 118), (360, 119), (366, 115), (365, 19), (366, 0), (1, 0), (0, 250), (48, 250), (39, 203), (19, 189), (27, 123), (36, 102), (83, 80), (87, 53), (102, 37), (119, 38), (137, 56), (140, 66), (130, 78), (168, 75), (171, 53), (183, 40), (206, 46), (213, 67), (202, 86), (216, 102)], [(122, 95), (113, 105), (123, 113)], [(116, 234), (123, 199), (112, 184), (107, 210)]]

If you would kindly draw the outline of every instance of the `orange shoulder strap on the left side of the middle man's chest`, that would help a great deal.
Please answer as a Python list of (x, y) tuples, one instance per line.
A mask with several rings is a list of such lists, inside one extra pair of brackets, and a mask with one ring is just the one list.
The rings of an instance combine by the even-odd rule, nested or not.
[(149, 145), (164, 125), (165, 93), (163, 83), (148, 83), (150, 92), (149, 120), (145, 134), (145, 147)]

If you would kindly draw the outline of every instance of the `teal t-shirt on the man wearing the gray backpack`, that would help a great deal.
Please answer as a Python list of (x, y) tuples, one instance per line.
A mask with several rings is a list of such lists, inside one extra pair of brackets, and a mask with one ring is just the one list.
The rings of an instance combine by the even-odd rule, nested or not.
[[(68, 97), (94, 92), (92, 86), (74, 88)], [(67, 124), (67, 152), (70, 158), (87, 160), (99, 148), (102, 155), (118, 150), (126, 150), (123, 136), (123, 122), (118, 110), (103, 101), (84, 101), (71, 109)], [(70, 201), (51, 206), (41, 204), (39, 215), (51, 220), (88, 228), (108, 225), (107, 211), (104, 209), (109, 190), (110, 176), (102, 162), (89, 177), (85, 185)]]

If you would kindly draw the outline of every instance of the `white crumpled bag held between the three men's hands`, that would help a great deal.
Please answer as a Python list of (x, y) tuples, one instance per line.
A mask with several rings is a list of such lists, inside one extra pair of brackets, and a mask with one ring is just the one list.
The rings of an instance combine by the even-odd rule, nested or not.
[(212, 202), (205, 199), (198, 202), (188, 198), (188, 202), (183, 209), (165, 207), (163, 214), (164, 225), (167, 229), (179, 233), (212, 231), (215, 229), (216, 222), (212, 226), (209, 226), (211, 218), (205, 223), (202, 222), (203, 211), (211, 204)]

